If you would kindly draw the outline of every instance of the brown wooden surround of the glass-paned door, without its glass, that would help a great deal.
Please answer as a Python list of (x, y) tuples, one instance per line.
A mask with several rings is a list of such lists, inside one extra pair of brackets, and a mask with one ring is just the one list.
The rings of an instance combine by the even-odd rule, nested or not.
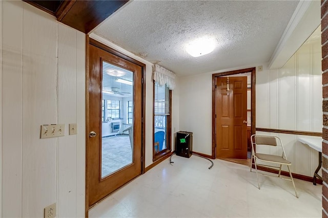
[[(96, 132), (89, 138), (88, 147), (88, 203), (89, 207), (104, 199), (111, 192), (141, 174), (141, 118), (142, 118), (142, 68), (128, 60), (122, 59), (93, 45), (89, 47), (89, 129)], [(133, 72), (133, 144), (132, 163), (110, 174), (101, 176), (102, 152), (102, 100), (103, 100), (103, 62)], [(89, 134), (89, 133), (88, 133)]]

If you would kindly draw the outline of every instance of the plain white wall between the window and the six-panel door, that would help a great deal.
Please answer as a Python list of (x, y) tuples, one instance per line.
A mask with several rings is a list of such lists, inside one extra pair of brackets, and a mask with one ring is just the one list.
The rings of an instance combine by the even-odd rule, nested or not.
[(181, 131), (193, 133), (193, 151), (212, 155), (212, 74), (179, 77)]

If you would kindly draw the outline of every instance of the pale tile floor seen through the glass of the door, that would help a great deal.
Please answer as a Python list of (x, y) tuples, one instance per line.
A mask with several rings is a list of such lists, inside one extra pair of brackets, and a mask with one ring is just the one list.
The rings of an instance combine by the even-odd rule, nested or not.
[(102, 177), (105, 177), (132, 162), (132, 151), (129, 135), (104, 137), (102, 148)]

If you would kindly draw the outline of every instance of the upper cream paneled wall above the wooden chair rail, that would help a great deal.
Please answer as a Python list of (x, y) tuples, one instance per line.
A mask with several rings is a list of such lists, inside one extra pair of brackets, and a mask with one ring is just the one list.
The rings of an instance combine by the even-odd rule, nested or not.
[(321, 132), (320, 38), (305, 43), (279, 70), (256, 74), (256, 127)]

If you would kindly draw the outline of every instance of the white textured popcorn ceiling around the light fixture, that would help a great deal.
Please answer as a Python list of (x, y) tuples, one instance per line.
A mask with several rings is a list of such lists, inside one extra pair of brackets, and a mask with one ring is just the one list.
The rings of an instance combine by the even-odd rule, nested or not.
[[(298, 1), (133, 1), (94, 33), (179, 76), (268, 62)], [(189, 41), (216, 38), (192, 57)], [(254, 66), (255, 67), (255, 66)]]

